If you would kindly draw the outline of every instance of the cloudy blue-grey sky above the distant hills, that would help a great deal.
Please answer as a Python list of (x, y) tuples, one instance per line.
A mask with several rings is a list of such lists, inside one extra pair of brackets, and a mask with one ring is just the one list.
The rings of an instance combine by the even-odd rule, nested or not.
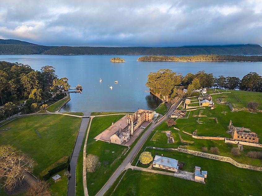
[(0, 39), (52, 46), (262, 45), (262, 0), (0, 2)]

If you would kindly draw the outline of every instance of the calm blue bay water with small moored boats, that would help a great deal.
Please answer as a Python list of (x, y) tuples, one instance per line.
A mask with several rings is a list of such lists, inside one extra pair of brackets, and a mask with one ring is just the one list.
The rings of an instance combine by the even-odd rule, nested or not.
[[(138, 62), (137, 55), (118, 55), (125, 63), (110, 62), (116, 55), (0, 55), (0, 61), (19, 62), (40, 70), (50, 65), (56, 75), (69, 79), (71, 87), (81, 84), (82, 94), (70, 93), (71, 100), (62, 112), (136, 111), (154, 109), (161, 102), (145, 92), (147, 76), (159, 69), (171, 69), (186, 75), (205, 70), (214, 76), (236, 76), (242, 79), (249, 72), (262, 75), (262, 62)], [(99, 79), (103, 81), (100, 83)], [(118, 80), (118, 84), (114, 81)], [(113, 89), (110, 90), (109, 86)]]

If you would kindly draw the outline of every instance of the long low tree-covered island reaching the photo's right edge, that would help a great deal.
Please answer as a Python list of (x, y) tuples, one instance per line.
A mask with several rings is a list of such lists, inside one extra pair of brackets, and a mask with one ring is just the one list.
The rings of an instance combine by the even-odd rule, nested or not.
[(195, 56), (144, 56), (138, 61), (231, 61), (231, 62), (260, 62), (262, 56), (244, 55), (195, 55)]

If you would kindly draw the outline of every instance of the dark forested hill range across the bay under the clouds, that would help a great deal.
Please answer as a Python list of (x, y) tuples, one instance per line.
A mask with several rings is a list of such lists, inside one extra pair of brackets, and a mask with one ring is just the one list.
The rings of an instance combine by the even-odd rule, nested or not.
[(262, 47), (255, 44), (182, 46), (182, 47), (71, 47), (43, 46), (20, 40), (0, 39), (0, 54), (138, 54), (138, 55), (190, 55), (190, 54), (262, 54)]

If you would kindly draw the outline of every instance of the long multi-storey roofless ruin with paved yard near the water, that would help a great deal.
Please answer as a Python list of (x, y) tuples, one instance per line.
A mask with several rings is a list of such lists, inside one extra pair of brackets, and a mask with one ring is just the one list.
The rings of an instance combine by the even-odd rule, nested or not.
[(139, 109), (134, 114), (125, 115), (116, 123), (112, 123), (112, 126), (97, 135), (95, 139), (124, 145), (142, 123), (149, 123), (153, 118), (154, 111)]

